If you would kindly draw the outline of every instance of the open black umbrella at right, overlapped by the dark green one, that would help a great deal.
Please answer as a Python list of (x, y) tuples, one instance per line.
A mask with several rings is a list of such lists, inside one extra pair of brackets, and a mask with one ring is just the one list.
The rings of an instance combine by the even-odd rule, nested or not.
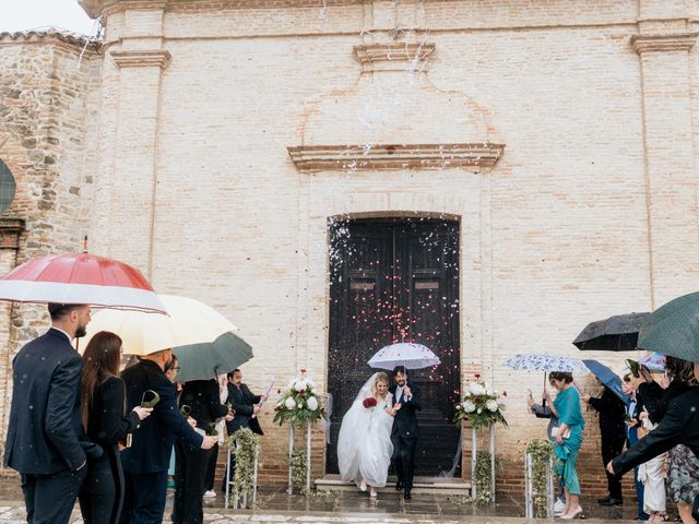
[(589, 323), (572, 343), (582, 350), (632, 352), (641, 324), (651, 313), (617, 314)]

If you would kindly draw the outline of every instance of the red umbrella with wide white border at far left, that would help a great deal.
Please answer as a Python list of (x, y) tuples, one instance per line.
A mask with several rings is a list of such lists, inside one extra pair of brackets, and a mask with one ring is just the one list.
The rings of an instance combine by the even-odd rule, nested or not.
[(0, 276), (0, 300), (85, 303), (167, 314), (139, 270), (90, 253), (66, 253), (25, 262)]

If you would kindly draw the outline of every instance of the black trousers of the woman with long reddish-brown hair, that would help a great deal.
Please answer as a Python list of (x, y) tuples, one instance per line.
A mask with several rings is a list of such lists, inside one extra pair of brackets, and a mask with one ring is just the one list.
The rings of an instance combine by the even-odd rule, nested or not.
[(123, 473), (114, 450), (87, 462), (87, 476), (78, 496), (85, 524), (117, 524), (123, 505)]

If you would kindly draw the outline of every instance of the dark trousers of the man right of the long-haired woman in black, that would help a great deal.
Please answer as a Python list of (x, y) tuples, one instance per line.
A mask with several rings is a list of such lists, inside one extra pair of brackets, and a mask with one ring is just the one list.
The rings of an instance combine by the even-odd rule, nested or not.
[(162, 524), (167, 495), (167, 471), (125, 472), (121, 524)]

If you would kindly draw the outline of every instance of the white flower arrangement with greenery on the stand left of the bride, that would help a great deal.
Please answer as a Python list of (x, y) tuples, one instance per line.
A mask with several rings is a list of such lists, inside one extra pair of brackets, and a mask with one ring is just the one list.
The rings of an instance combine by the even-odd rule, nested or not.
[(282, 398), (274, 406), (274, 422), (279, 422), (280, 426), (291, 422), (301, 428), (307, 421), (316, 424), (321, 418), (327, 419), (328, 414), (318, 395), (316, 384), (306, 378), (306, 370), (301, 368), (300, 377), (292, 379), (282, 393)]

